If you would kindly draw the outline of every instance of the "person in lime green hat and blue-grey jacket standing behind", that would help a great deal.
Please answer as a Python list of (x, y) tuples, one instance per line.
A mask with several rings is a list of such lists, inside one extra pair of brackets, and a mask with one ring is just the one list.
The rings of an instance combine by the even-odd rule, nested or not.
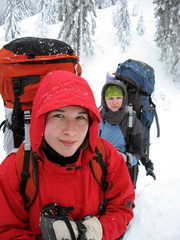
[[(136, 188), (138, 160), (143, 156), (142, 124), (132, 113), (133, 128), (128, 136), (130, 119), (126, 86), (121, 81), (112, 80), (114, 76), (109, 73), (107, 73), (107, 78), (101, 93), (99, 136), (109, 141), (123, 156), (133, 186)], [(152, 169), (148, 169), (147, 173), (151, 175)]]

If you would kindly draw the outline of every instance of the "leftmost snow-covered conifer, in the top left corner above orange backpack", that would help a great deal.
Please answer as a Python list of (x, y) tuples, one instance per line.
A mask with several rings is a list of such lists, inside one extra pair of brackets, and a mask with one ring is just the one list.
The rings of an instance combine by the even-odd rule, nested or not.
[(19, 0), (7, 0), (5, 6), (5, 41), (11, 41), (20, 34)]

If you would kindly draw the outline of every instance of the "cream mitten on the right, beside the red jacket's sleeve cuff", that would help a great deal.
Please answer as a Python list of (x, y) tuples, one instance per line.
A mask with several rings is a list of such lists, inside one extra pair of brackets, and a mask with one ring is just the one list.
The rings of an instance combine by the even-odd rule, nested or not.
[(101, 240), (102, 239), (102, 225), (96, 217), (91, 217), (82, 222), (86, 227), (87, 240)]

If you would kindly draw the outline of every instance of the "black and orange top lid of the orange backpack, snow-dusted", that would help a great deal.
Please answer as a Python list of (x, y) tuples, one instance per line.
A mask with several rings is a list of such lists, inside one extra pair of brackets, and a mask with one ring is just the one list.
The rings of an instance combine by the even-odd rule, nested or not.
[(0, 63), (53, 60), (78, 57), (65, 42), (57, 39), (24, 37), (15, 39), (0, 50)]

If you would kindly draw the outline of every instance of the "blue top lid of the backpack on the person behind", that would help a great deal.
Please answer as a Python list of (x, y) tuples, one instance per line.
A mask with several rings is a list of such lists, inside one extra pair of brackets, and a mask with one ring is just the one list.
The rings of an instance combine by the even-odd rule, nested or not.
[(129, 59), (123, 63), (118, 64), (116, 69), (117, 79), (128, 77), (131, 84), (141, 88), (145, 93), (151, 94), (154, 91), (155, 76), (154, 69), (147, 63)]

